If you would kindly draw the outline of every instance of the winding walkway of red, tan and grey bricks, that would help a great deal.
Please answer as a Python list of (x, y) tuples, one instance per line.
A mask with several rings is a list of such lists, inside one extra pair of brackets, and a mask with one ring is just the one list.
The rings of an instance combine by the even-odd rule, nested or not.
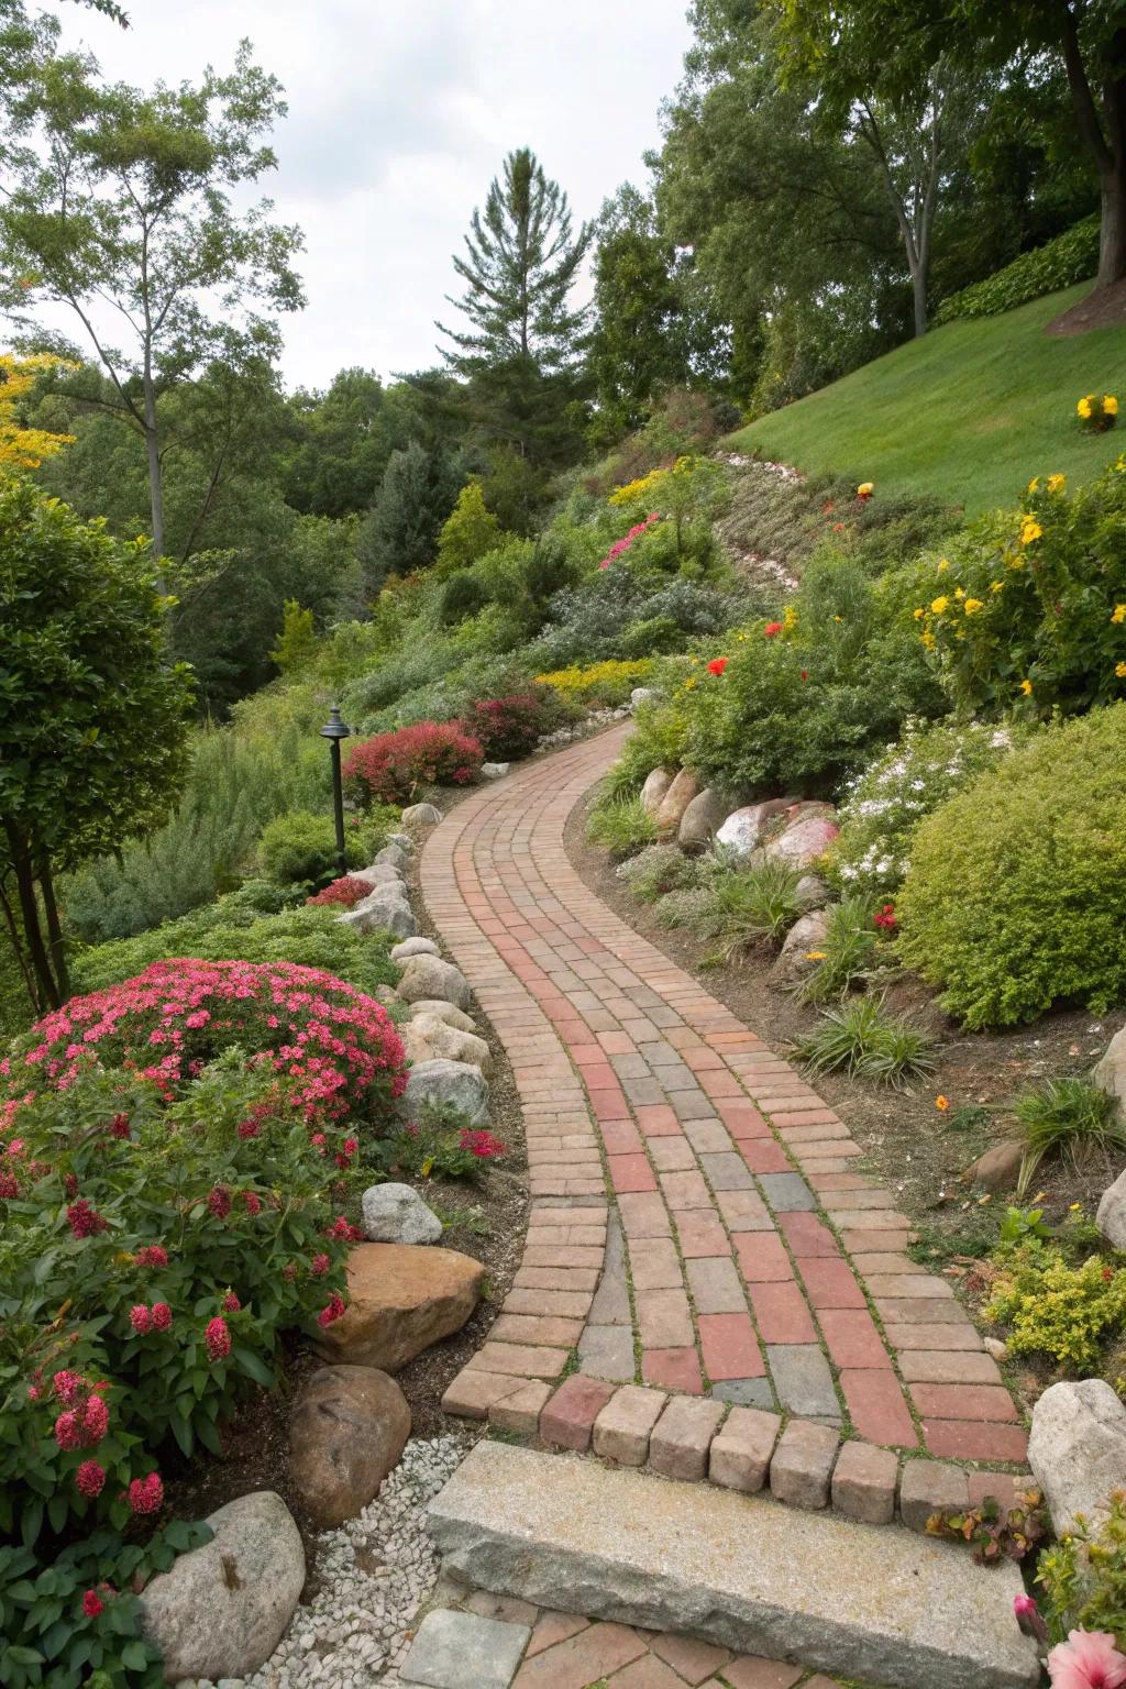
[(589, 1419), (645, 1383), (1021, 1463), (994, 1361), (950, 1284), (908, 1258), (907, 1216), (853, 1170), (847, 1127), (571, 866), (567, 816), (626, 731), (485, 787), (425, 844), (430, 915), (512, 1059), (533, 1198), (447, 1409), (535, 1431), (577, 1348), (589, 1383), (566, 1395)]

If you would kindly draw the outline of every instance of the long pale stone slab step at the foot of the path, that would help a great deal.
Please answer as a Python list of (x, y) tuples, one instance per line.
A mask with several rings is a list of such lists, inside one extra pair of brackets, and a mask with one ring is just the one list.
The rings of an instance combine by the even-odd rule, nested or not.
[(1033, 1689), (1020, 1572), (895, 1525), (478, 1442), (430, 1503), (446, 1564), (496, 1594), (675, 1630), (888, 1689)]

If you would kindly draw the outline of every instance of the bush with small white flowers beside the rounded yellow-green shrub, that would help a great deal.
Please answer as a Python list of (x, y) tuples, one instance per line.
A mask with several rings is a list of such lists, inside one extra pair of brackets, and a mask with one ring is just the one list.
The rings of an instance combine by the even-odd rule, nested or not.
[(832, 878), (858, 892), (893, 892), (923, 816), (994, 767), (1015, 740), (1011, 726), (983, 721), (907, 721), (898, 741), (849, 780)]

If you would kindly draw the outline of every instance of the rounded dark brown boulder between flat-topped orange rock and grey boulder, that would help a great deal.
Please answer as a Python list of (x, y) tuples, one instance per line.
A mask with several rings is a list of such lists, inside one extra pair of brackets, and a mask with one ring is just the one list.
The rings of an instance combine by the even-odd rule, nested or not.
[(289, 1417), (289, 1469), (316, 1530), (361, 1513), (410, 1436), (410, 1409), (373, 1366), (322, 1366)]

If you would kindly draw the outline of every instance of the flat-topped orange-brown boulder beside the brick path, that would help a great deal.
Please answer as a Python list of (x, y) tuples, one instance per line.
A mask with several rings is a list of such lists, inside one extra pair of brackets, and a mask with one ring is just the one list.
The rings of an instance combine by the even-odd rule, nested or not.
[(333, 1361), (398, 1371), (461, 1331), (478, 1306), (485, 1268), (459, 1250), (358, 1243), (348, 1257), (348, 1307), (317, 1333)]

